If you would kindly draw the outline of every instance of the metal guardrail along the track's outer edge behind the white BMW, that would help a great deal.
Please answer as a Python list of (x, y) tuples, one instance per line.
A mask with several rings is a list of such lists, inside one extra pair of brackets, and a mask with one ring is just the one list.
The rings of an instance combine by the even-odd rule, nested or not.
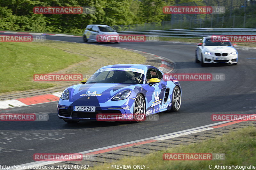
[(177, 30), (122, 31), (119, 34), (144, 34), (159, 37), (205, 37), (212, 35), (256, 35), (256, 28), (195, 28)]

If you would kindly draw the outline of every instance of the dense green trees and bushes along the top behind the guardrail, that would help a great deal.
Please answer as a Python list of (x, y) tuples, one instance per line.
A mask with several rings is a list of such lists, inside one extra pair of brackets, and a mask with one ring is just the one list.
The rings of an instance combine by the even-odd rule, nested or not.
[[(225, 6), (225, 14), (164, 14), (163, 6)], [(145, 23), (152, 23), (152, 29), (166, 29), (168, 23), (179, 21), (167, 29), (211, 27), (211, 18), (216, 27), (232, 27), (233, 15), (256, 14), (256, 4), (248, 2), (244, 10), (241, 0), (0, 0), (0, 30), (32, 32), (65, 32), (81, 34), (88, 24), (105, 24), (115, 26), (116, 30), (148, 29)], [(94, 14), (34, 14), (35, 6), (92, 6)], [(220, 22), (225, 18), (224, 24)], [(191, 23), (190, 20), (193, 20)], [(184, 23), (180, 24), (180, 21)], [(235, 27), (243, 27), (243, 17), (235, 19)], [(215, 22), (219, 25), (216, 25)], [(119, 26), (117, 26), (119, 25)], [(133, 26), (132, 26), (133, 25)], [(137, 28), (142, 25), (142, 28)], [(169, 24), (170, 25), (170, 24)], [(194, 25), (194, 26), (193, 26)], [(160, 28), (157, 28), (157, 26)], [(255, 26), (254, 17), (246, 19), (246, 27)], [(201, 27), (201, 26), (200, 26)]]

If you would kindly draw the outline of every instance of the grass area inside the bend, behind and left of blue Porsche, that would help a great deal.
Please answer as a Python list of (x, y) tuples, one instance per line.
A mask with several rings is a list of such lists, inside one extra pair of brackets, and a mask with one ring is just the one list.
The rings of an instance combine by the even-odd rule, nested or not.
[(106, 65), (146, 62), (142, 55), (122, 49), (52, 40), (3, 42), (0, 48), (0, 93), (43, 89), (65, 83), (35, 82), (34, 74), (73, 73), (85, 77)]

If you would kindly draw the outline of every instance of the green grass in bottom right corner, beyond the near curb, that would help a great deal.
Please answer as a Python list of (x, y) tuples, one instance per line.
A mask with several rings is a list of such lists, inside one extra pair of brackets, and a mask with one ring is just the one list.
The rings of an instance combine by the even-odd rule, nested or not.
[[(225, 160), (163, 160), (163, 153), (225, 153)], [(117, 162), (105, 163), (92, 170), (110, 169), (110, 165), (146, 165), (148, 170), (205, 170), (208, 166), (255, 166), (256, 162), (256, 127), (247, 127), (206, 140), (194, 145), (179, 146), (164, 151), (154, 152), (145, 157), (127, 157)], [(109, 167), (109, 168), (107, 168)], [(149, 167), (149, 168), (147, 168)]]

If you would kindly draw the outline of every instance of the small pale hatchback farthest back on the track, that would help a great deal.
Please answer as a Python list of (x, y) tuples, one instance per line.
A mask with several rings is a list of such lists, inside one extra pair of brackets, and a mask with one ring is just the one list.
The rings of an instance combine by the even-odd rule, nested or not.
[[(111, 36), (111, 39), (101, 39), (98, 40), (99, 35), (108, 35)], [(83, 40), (87, 42), (88, 40), (97, 41), (97, 42), (120, 42), (118, 38), (119, 34), (113, 30), (108, 25), (87, 25), (86, 29), (84, 30)]]

